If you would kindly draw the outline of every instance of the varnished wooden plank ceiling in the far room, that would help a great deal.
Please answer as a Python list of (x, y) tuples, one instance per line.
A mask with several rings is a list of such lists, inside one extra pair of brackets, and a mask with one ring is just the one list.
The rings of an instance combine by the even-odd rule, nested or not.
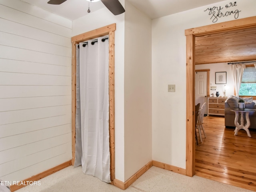
[(256, 60), (256, 28), (196, 36), (195, 64)]

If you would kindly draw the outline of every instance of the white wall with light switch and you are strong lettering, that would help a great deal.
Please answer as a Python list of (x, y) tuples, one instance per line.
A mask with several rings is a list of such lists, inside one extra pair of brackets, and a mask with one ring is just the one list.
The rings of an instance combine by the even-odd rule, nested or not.
[[(195, 8), (152, 21), (152, 158), (186, 168), (186, 36), (184, 30), (213, 24), (207, 8), (225, 7), (230, 1)], [(254, 0), (236, 0), (230, 8), (240, 18), (256, 16)], [(225, 10), (225, 8), (223, 9)], [(235, 20), (234, 15), (216, 23)], [(168, 84), (176, 92), (167, 92)]]

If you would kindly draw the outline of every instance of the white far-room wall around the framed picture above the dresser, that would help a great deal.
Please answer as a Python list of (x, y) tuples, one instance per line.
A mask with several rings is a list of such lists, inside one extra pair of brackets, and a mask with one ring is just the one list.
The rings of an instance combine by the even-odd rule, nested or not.
[[(210, 90), (210, 94), (214, 93), (216, 97), (216, 92), (220, 93), (220, 96), (224, 96), (224, 86), (226, 85), (226, 97), (234, 95), (234, 83), (232, 78), (231, 67), (228, 63), (214, 63), (214, 64), (201, 64), (196, 65), (196, 70), (200, 69), (210, 69), (210, 84), (212, 86), (217, 86), (215, 91)], [(215, 72), (227, 72), (226, 80), (227, 84), (215, 84)]]

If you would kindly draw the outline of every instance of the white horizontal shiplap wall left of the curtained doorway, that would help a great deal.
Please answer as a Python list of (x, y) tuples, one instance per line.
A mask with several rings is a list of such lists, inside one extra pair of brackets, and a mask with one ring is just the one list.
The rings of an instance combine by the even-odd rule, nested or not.
[(72, 22), (0, 0), (0, 178), (24, 180), (71, 155)]

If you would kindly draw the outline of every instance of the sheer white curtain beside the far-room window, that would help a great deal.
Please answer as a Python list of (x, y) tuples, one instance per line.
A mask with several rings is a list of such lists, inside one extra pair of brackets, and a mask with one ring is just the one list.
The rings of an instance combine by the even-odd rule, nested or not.
[(242, 82), (243, 72), (245, 69), (245, 64), (232, 64), (231, 72), (233, 74), (233, 81), (236, 90), (236, 96), (239, 96), (239, 90)]

